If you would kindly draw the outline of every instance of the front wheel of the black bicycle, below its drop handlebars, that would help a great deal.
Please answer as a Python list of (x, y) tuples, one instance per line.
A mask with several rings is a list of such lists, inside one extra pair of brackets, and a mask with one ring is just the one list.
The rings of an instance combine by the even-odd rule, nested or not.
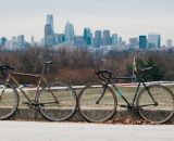
[(87, 86), (78, 95), (82, 116), (88, 121), (105, 121), (111, 118), (117, 105), (117, 99), (111, 88), (107, 88), (103, 98), (96, 103), (103, 92), (102, 86)]

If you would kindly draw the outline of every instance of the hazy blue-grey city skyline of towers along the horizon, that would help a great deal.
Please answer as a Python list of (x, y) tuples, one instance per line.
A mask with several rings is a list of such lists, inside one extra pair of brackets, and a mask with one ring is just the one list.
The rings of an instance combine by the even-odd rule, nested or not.
[[(89, 27), (85, 27), (82, 35), (75, 35), (73, 24), (65, 23), (64, 33), (55, 33), (53, 15), (48, 14), (44, 27), (45, 35), (40, 41), (35, 41), (34, 35), (30, 44), (25, 41), (24, 35), (18, 35), (8, 40), (0, 38), (0, 49), (24, 50), (27, 47), (46, 47), (59, 49), (70, 46), (71, 48), (86, 48), (88, 51), (108, 52), (110, 50), (159, 50), (161, 48), (161, 36), (159, 34), (139, 35), (130, 37), (128, 41), (122, 39), (117, 34), (111, 34), (109, 29), (96, 30), (94, 34)], [(173, 48), (172, 39), (166, 40), (166, 48)]]

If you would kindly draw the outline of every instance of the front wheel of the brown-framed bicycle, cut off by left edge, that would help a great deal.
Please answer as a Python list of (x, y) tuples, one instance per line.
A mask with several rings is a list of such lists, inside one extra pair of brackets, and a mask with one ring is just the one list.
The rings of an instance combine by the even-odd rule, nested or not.
[(11, 85), (0, 81), (0, 119), (11, 117), (18, 106), (18, 93)]

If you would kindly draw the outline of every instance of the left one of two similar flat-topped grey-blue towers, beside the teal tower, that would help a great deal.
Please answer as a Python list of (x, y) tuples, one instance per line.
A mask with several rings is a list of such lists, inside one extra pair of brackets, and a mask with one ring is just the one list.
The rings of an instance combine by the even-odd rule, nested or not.
[(94, 47), (100, 48), (101, 44), (102, 44), (101, 30), (96, 30), (95, 38), (94, 38)]

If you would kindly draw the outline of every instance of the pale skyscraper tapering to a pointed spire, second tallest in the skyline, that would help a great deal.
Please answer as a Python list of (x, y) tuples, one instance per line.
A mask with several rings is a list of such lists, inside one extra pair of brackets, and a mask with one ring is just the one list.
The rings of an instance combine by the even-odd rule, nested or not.
[(69, 21), (66, 22), (65, 29), (65, 42), (69, 44), (74, 44), (74, 26)]

